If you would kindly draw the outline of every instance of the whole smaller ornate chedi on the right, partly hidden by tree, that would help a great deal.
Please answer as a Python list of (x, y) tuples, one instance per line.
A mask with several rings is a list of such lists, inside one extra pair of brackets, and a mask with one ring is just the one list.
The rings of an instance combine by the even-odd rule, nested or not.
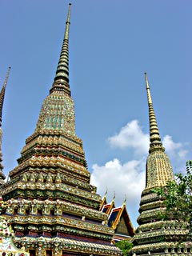
[(162, 146), (146, 74), (145, 78), (150, 117), (150, 150), (146, 161), (146, 188), (142, 191), (139, 226), (134, 236), (134, 248), (131, 254), (192, 255), (190, 245), (180, 242), (188, 233), (186, 223), (169, 219), (162, 221), (160, 213), (165, 211), (163, 199), (152, 190), (174, 181), (174, 174), (170, 159)]

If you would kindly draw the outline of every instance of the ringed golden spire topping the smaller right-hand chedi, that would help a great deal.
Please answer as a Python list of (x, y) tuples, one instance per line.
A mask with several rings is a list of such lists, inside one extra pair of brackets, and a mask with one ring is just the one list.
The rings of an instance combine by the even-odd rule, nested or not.
[(152, 98), (150, 96), (150, 86), (147, 79), (147, 74), (145, 73), (146, 78), (146, 92), (147, 92), (147, 100), (148, 100), (148, 106), (149, 106), (149, 118), (150, 118), (150, 150), (159, 150), (165, 151), (165, 149), (162, 147), (162, 141), (158, 130), (158, 123), (155, 118), (154, 114), (154, 107)]

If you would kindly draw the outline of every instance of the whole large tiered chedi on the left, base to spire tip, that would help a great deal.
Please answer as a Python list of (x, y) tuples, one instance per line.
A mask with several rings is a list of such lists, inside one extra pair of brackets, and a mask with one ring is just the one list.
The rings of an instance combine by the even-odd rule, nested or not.
[(30, 255), (122, 255), (111, 240), (102, 198), (90, 185), (82, 140), (75, 134), (66, 31), (50, 94), (42, 103), (34, 134), (26, 139), (18, 166), (2, 186), (4, 216), (14, 243)]

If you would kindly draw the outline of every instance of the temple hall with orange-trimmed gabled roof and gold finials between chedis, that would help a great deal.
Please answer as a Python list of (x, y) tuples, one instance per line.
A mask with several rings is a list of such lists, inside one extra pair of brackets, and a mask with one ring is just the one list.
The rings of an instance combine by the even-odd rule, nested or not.
[(106, 202), (106, 195), (102, 198), (100, 209), (108, 215), (108, 226), (114, 230), (114, 242), (126, 240), (131, 242), (134, 237), (134, 227), (126, 209), (126, 199), (122, 206), (115, 207), (114, 198), (110, 203)]

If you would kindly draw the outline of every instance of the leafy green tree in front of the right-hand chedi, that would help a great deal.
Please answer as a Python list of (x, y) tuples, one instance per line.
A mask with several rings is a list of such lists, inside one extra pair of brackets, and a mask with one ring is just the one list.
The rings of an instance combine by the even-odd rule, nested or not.
[(166, 212), (162, 218), (176, 219), (186, 222), (189, 237), (192, 234), (192, 161), (186, 162), (186, 174), (175, 174), (175, 181), (167, 186), (154, 189), (154, 192), (164, 199)]

